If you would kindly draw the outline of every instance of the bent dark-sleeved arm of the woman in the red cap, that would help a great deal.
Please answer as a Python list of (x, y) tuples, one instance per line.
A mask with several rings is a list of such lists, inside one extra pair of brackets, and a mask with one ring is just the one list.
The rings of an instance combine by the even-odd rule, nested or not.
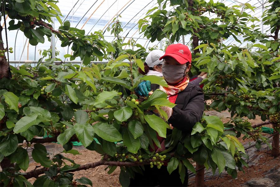
[(204, 111), (204, 94), (198, 86), (194, 86), (190, 93), (190, 101), (183, 110), (173, 108), (173, 114), (168, 122), (173, 127), (184, 132), (191, 132), (195, 123), (198, 122)]

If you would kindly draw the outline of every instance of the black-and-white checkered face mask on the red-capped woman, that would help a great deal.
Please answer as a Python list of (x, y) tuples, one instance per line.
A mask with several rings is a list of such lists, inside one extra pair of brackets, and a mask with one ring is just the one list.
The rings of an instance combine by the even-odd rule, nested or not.
[(171, 84), (179, 82), (185, 76), (186, 64), (182, 65), (162, 65), (164, 79)]

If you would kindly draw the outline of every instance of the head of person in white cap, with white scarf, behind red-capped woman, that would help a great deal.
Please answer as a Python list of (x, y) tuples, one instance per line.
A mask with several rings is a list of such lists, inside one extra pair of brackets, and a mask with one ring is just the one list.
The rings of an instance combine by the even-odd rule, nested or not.
[(164, 55), (164, 52), (159, 49), (152, 50), (148, 55), (144, 63), (144, 71), (138, 68), (138, 71), (142, 75), (156, 75), (162, 77), (162, 64), (163, 59), (159, 60), (161, 56)]

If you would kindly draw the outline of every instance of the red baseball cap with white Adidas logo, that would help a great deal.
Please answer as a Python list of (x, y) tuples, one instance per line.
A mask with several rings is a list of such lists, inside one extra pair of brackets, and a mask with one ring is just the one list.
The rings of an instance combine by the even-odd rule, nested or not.
[(180, 64), (185, 64), (187, 62), (192, 63), (192, 54), (189, 50), (189, 47), (183, 44), (171, 44), (167, 46), (165, 54), (160, 57), (159, 60), (166, 56), (174, 58)]

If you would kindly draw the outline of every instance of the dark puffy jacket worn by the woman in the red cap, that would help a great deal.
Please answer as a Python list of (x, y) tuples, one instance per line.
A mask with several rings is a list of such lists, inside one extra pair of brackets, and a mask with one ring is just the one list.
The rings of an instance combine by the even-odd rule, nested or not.
[[(201, 88), (198, 86), (198, 80), (189, 82), (184, 91), (178, 93), (173, 108), (173, 114), (169, 118), (168, 122), (173, 127), (189, 133), (192, 131), (195, 123), (198, 122), (204, 110), (204, 94)], [(156, 90), (159, 85), (152, 84), (151, 90)]]

